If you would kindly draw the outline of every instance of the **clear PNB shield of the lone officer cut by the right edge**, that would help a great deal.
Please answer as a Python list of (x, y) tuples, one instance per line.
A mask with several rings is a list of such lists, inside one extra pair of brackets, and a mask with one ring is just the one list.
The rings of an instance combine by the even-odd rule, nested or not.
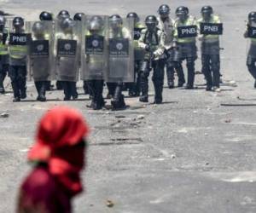
[(247, 38), (247, 60), (256, 59), (256, 23), (247, 23)]

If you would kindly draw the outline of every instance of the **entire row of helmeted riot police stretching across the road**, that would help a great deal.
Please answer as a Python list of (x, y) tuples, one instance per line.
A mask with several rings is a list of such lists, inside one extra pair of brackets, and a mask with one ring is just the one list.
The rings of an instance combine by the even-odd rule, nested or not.
[[(219, 90), (219, 37), (223, 24), (212, 7), (202, 7), (199, 20), (183, 6), (176, 9), (176, 20), (171, 19), (166, 4), (160, 6), (158, 14), (148, 15), (142, 23), (136, 13), (126, 18), (79, 13), (71, 19), (62, 10), (55, 20), (52, 14), (42, 12), (38, 21), (24, 22), (15, 17), (10, 26), (0, 16), (0, 92), (4, 92), (3, 80), (8, 71), (14, 101), (26, 98), (26, 76), (35, 82), (38, 101), (46, 101), (45, 91), (50, 89), (51, 80), (57, 81), (57, 89), (64, 90), (65, 101), (76, 100), (76, 83), (82, 79), (84, 93), (91, 98), (89, 107), (104, 107), (102, 91), (107, 83), (107, 97), (112, 98), (113, 109), (118, 109), (125, 107), (124, 88), (131, 96), (140, 95), (139, 101), (148, 102), (148, 77), (153, 70), (154, 103), (159, 104), (163, 100), (165, 67), (168, 87), (175, 86), (175, 72), (177, 87), (183, 87), (186, 80), (182, 63), (186, 60), (185, 89), (194, 88), (196, 37), (201, 42), (207, 90)], [(256, 13), (249, 14), (245, 37), (252, 41), (247, 66), (256, 79), (255, 21)]]

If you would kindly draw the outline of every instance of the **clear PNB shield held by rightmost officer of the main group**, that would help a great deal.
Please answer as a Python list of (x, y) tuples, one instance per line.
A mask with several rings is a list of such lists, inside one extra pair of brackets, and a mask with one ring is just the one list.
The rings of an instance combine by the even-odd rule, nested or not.
[(223, 23), (220, 16), (212, 14), (210, 20), (198, 20), (201, 55), (219, 55), (222, 49)]

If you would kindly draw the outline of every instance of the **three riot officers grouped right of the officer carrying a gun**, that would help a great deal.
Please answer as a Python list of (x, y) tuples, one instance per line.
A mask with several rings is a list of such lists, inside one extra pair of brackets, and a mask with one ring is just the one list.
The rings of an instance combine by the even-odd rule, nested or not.
[(186, 83), (183, 60), (186, 60), (188, 80), (185, 89), (193, 89), (195, 82), (195, 60), (197, 59), (196, 37), (201, 42), (202, 72), (207, 81), (207, 90), (218, 90), (220, 82), (219, 37), (223, 24), (211, 6), (201, 8), (201, 18), (189, 15), (189, 9), (176, 9), (176, 20), (170, 18), (170, 8), (163, 4), (159, 10), (159, 28), (165, 33), (166, 74), (168, 87), (174, 88), (174, 72), (177, 72), (177, 87)]

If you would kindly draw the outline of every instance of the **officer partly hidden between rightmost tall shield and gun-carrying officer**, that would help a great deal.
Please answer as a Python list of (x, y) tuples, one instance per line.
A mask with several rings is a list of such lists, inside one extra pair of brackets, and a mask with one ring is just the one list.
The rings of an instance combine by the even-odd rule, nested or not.
[(145, 26), (140, 22), (140, 18), (135, 12), (128, 13), (126, 15), (127, 19), (134, 20), (134, 37), (133, 37), (133, 45), (134, 45), (134, 77), (135, 82), (134, 83), (128, 83), (128, 89), (129, 89), (129, 95), (130, 96), (139, 96), (141, 92), (141, 78), (140, 78), (140, 72), (139, 68), (141, 66), (141, 63), (143, 61), (143, 55), (144, 51), (142, 48), (138, 45), (138, 40), (141, 37), (141, 33)]

